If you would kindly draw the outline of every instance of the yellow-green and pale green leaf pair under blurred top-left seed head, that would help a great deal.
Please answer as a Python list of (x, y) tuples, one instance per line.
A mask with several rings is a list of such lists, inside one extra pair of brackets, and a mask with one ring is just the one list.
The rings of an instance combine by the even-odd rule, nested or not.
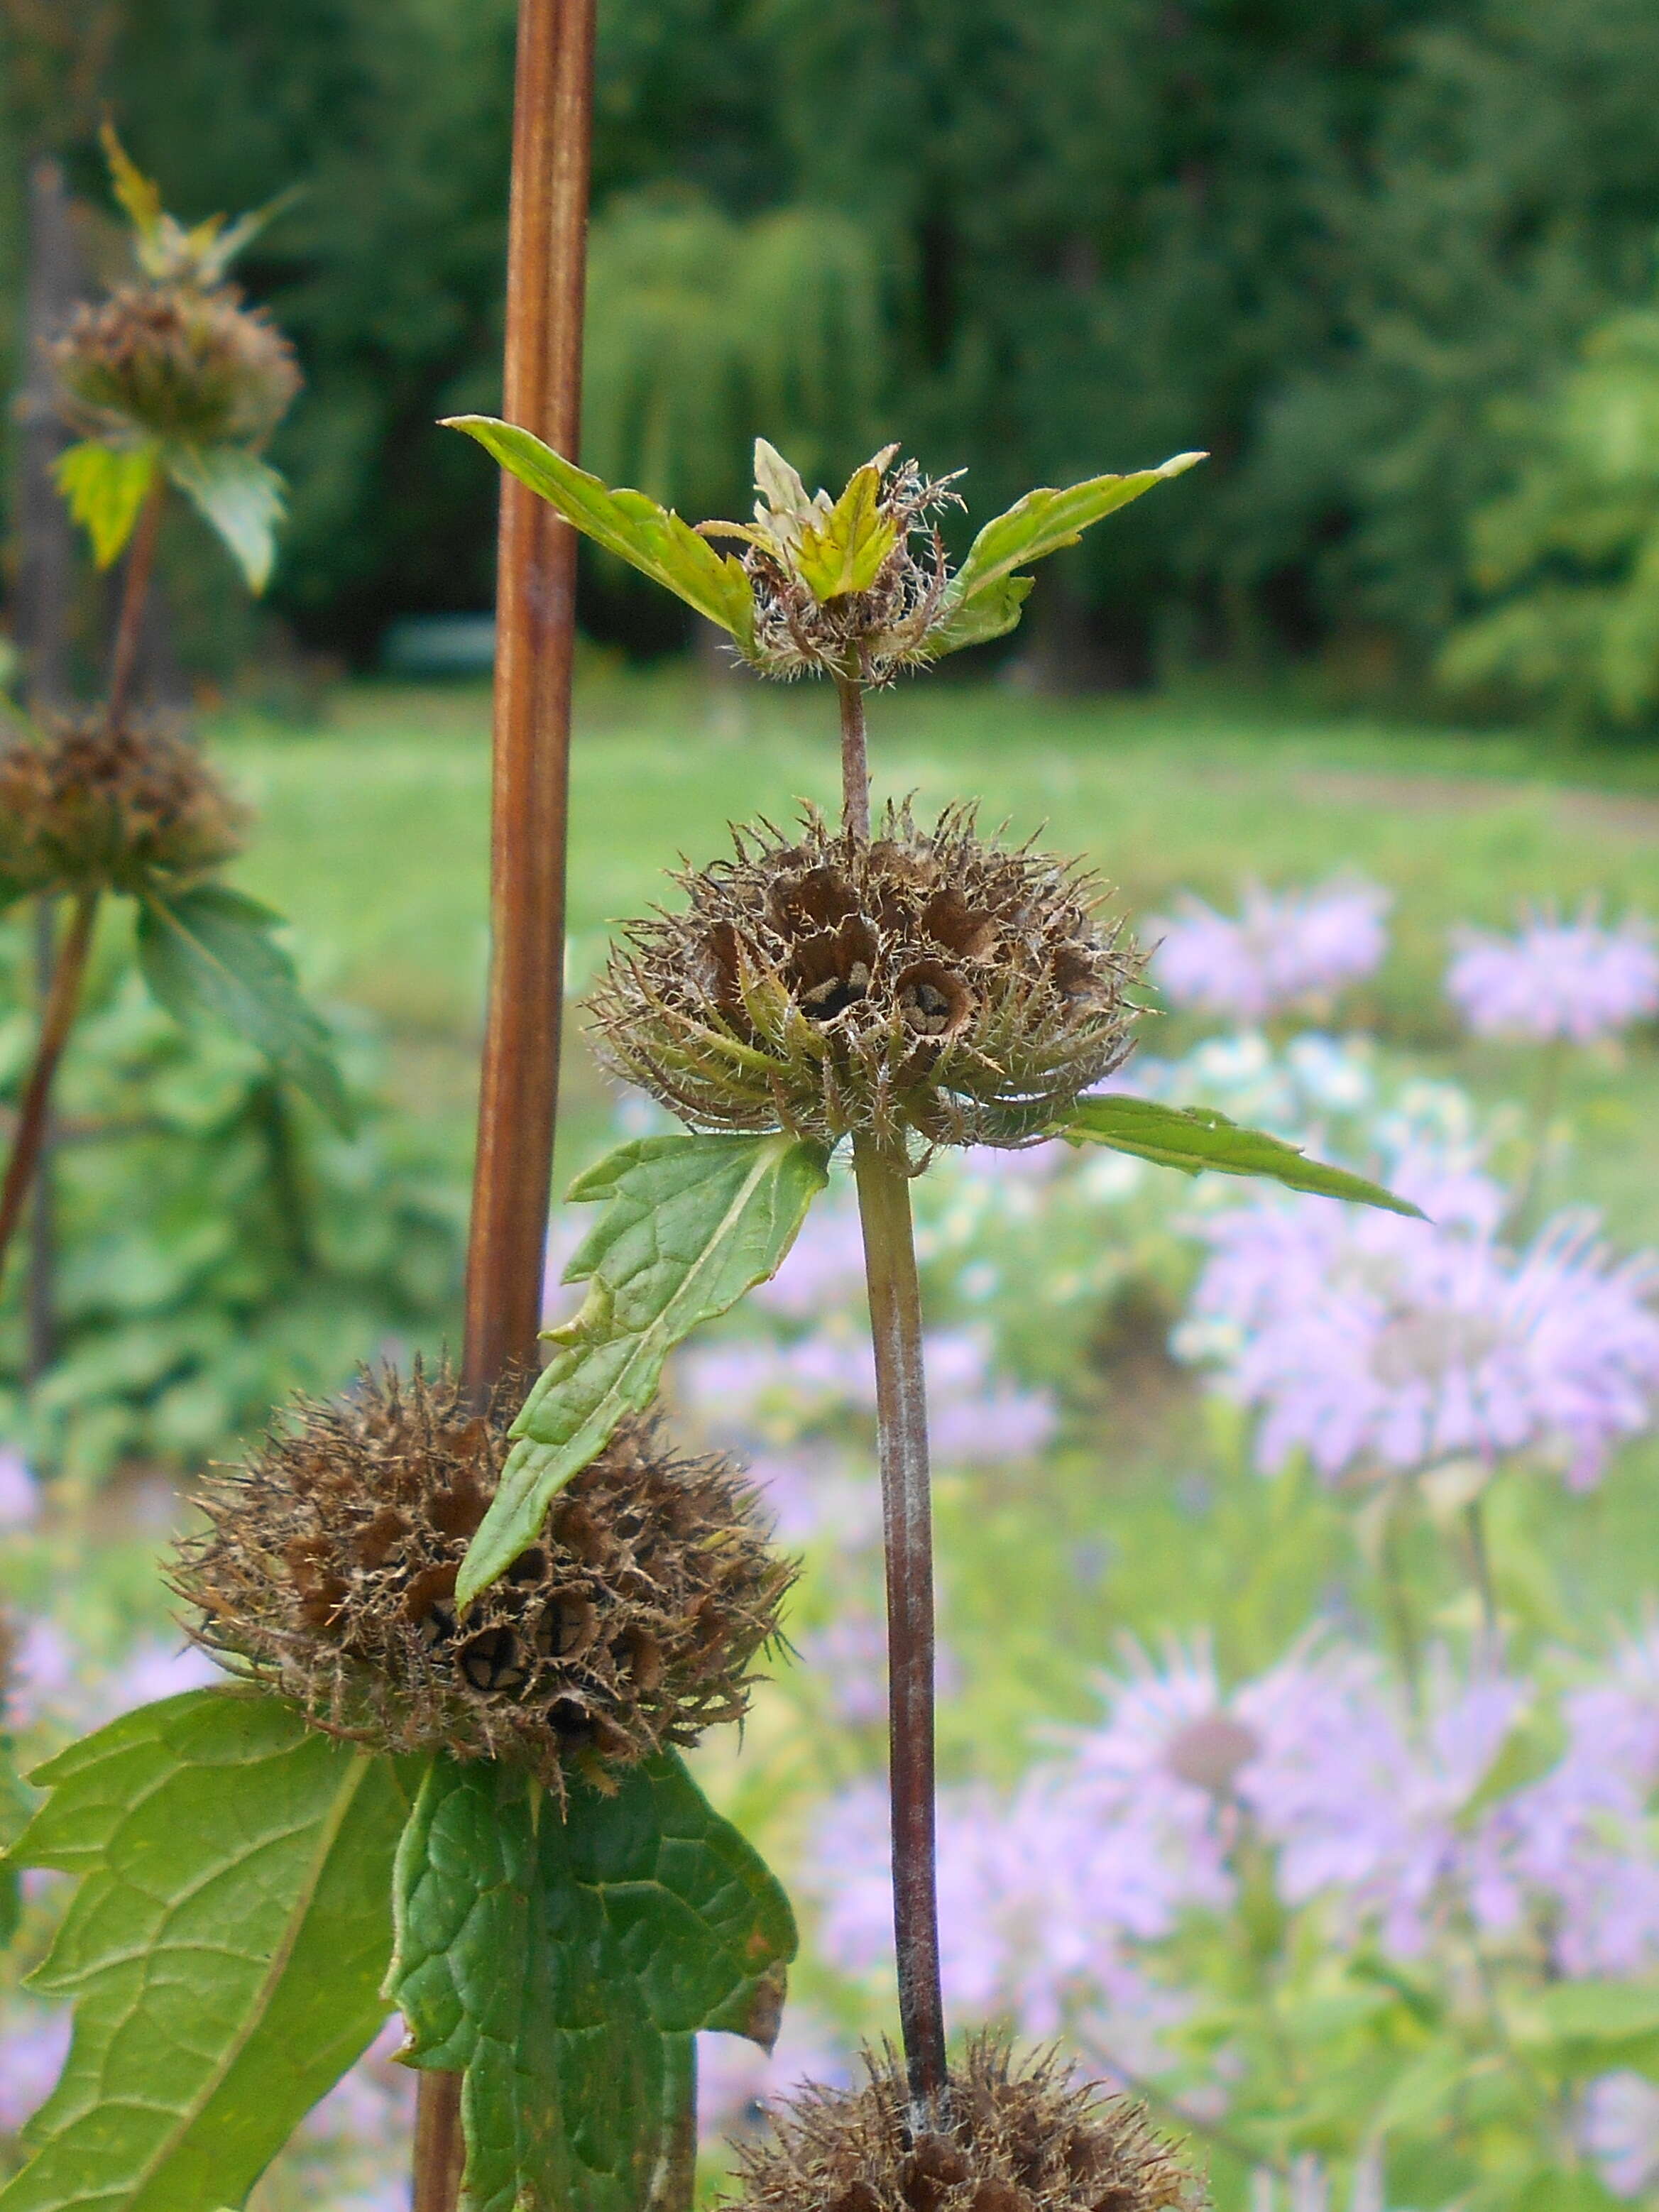
[(270, 582), (276, 524), (283, 518), (283, 480), (239, 445), (106, 445), (84, 438), (60, 453), (53, 473), (69, 513), (93, 542), (93, 562), (108, 568), (119, 557), (144, 502), (166, 478), (219, 533), (252, 593)]

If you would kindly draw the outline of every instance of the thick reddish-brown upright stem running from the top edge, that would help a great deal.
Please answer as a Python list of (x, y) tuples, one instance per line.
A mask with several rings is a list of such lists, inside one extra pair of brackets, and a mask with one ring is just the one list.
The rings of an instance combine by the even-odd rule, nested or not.
[[(502, 414), (575, 460), (582, 420), (595, 0), (520, 0)], [(575, 533), (502, 478), (495, 566), (491, 962), (462, 1371), (535, 1367), (560, 1099)], [(414, 2208), (453, 2212), (460, 2075), (422, 2073)]]

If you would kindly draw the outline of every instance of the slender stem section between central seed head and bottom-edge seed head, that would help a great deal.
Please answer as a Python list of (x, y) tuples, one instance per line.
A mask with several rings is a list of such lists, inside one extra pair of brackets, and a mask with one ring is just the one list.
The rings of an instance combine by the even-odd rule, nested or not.
[(852, 1141), (876, 1347), (880, 1506), (887, 1548), (887, 1772), (894, 1818), (898, 2024), (911, 2126), (945, 2119), (945, 1997), (933, 1820), (933, 1515), (927, 1480), (922, 1294), (900, 1150)]

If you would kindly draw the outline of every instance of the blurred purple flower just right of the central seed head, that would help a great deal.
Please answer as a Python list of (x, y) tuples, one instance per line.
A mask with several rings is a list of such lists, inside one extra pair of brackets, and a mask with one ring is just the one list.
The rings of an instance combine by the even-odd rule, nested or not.
[(1186, 894), (1170, 920), (1152, 922), (1164, 931), (1152, 975), (1170, 1004), (1234, 1022), (1318, 1011), (1380, 964), (1391, 902), (1358, 878), (1281, 894), (1252, 883), (1237, 918)]

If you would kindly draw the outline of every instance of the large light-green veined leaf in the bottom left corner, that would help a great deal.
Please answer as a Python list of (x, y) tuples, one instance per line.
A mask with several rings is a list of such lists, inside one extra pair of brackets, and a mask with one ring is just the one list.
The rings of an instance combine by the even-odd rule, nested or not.
[(31, 1980), (75, 2039), (0, 2205), (241, 2203), (385, 2020), (396, 1772), (281, 1699), (192, 1690), (35, 1778), (13, 1856), (82, 1880)]

